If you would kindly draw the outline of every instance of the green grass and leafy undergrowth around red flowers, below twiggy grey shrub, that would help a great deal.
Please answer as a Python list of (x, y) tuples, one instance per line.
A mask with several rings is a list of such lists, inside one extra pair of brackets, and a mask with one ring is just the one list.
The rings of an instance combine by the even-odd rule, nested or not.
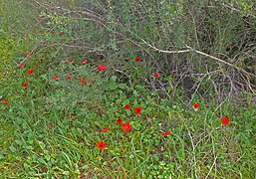
[[(15, 4), (9, 8), (9, 13), (23, 14)], [(28, 21), (38, 15), (36, 10), (28, 24), (3, 10), (0, 13), (9, 18), (9, 24), (1, 20), (5, 24), (0, 47), (5, 53), (0, 63), (0, 178), (256, 177), (256, 109), (251, 94), (242, 93), (243, 102), (225, 97), (220, 103), (200, 95), (187, 102), (182, 89), (176, 88), (167, 97), (146, 88), (143, 77), (152, 72), (144, 67), (150, 63), (134, 62), (137, 54), (130, 49), (126, 61), (115, 65), (124, 67), (126, 74), (119, 74), (113, 67), (116, 56), (112, 60), (106, 59), (112, 55), (104, 55), (102, 60), (97, 52), (93, 58), (54, 46), (76, 36), (69, 27), (58, 25), (53, 37), (42, 25), (33, 34), (34, 24)], [(61, 30), (64, 35), (58, 33)], [(33, 56), (26, 58), (25, 53), (35, 47)], [(89, 64), (82, 65), (85, 59)], [(23, 69), (18, 67), (22, 61)], [(99, 64), (107, 66), (106, 73), (97, 70)], [(28, 69), (35, 73), (28, 75)], [(54, 81), (56, 75), (60, 81)], [(69, 75), (71, 80), (66, 80)], [(88, 85), (79, 78), (86, 78)], [(161, 74), (147, 78), (171, 79)], [(22, 87), (25, 82), (27, 89)], [(200, 105), (198, 110), (193, 102)], [(140, 115), (134, 112), (136, 106), (142, 108)], [(221, 124), (223, 116), (230, 118), (228, 125)], [(116, 122), (118, 118), (130, 123), (128, 133)], [(103, 132), (107, 126), (111, 129)], [(170, 135), (161, 135), (168, 130)], [(97, 147), (99, 141), (107, 143), (104, 150)]]

